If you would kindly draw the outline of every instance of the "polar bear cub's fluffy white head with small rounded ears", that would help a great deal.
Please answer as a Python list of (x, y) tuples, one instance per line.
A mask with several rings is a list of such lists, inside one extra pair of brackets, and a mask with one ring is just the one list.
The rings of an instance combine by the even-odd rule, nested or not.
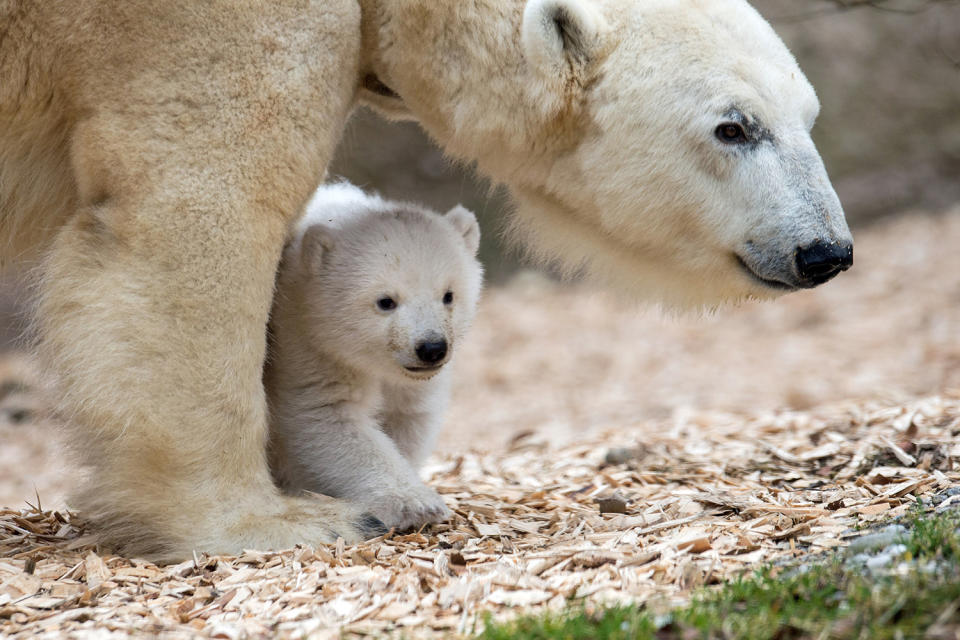
[(313, 340), (394, 382), (436, 375), (472, 323), (480, 294), (473, 214), (398, 209), (322, 233), (308, 300)]

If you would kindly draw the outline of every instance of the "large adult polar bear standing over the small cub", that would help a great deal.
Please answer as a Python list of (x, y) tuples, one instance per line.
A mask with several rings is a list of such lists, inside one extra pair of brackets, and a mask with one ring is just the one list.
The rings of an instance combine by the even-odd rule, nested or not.
[(358, 98), (632, 291), (714, 305), (850, 261), (815, 95), (741, 0), (0, 0), (0, 77), (4, 262), (41, 256), (74, 504), (128, 553), (378, 530), (279, 494), (260, 379), (284, 235)]

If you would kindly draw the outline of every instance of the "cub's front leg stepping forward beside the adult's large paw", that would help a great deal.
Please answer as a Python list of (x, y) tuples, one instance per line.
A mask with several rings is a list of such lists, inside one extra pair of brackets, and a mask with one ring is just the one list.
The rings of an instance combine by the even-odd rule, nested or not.
[(450, 516), (377, 424), (324, 407), (309, 424), (277, 430), (288, 491), (311, 491), (361, 505), (388, 527), (406, 529)]

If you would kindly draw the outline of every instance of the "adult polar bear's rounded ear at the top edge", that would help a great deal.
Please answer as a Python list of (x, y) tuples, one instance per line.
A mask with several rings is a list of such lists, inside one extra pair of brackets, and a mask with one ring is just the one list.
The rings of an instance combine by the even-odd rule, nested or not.
[(582, 66), (598, 48), (602, 18), (590, 0), (528, 0), (521, 39), (527, 61), (547, 76)]

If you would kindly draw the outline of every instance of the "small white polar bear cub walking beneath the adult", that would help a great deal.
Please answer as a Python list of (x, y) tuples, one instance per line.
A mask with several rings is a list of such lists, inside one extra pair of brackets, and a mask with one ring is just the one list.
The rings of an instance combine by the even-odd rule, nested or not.
[(362, 505), (388, 527), (449, 516), (418, 477), (450, 393), (450, 359), (482, 282), (480, 229), (337, 184), (284, 248), (264, 383), (271, 466), (287, 492)]

